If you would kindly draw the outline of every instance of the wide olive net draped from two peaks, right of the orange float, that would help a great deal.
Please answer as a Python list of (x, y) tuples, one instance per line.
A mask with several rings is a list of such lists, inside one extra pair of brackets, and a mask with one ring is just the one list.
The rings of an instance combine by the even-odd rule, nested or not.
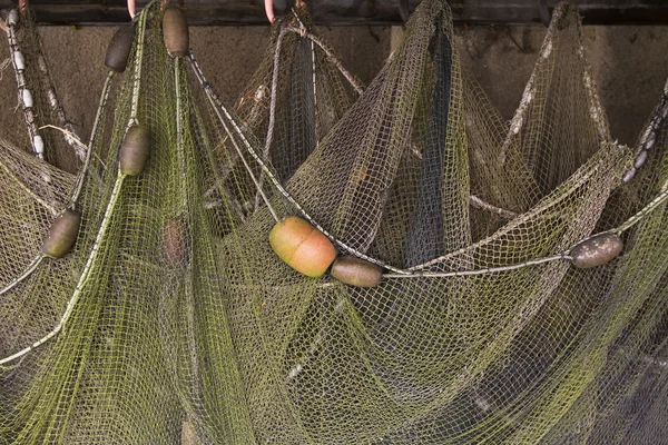
[[(227, 312), (210, 314), (229, 323), (258, 442), (597, 443), (654, 366), (664, 208), (625, 221), (662, 174), (636, 209), (611, 198), (633, 152), (608, 135), (577, 9), (556, 10), (508, 127), (452, 40), (448, 8), (424, 1), (272, 201), (382, 264), (383, 283), (292, 270), (266, 210), (220, 243)], [(576, 268), (569, 253), (600, 230), (623, 235), (623, 255)]]

